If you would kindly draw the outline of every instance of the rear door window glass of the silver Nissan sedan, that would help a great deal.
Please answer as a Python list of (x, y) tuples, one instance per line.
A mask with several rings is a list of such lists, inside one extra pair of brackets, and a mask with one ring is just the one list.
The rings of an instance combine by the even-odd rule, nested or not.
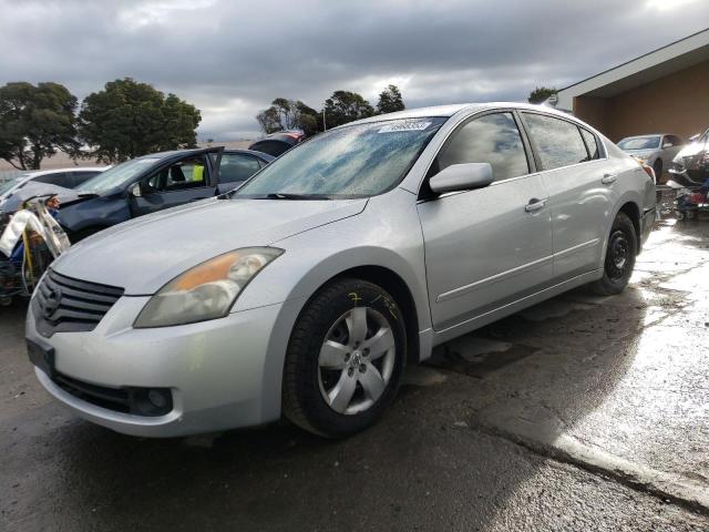
[(586, 145), (575, 124), (542, 114), (523, 114), (530, 135), (538, 150), (543, 170), (554, 170), (587, 161)]

